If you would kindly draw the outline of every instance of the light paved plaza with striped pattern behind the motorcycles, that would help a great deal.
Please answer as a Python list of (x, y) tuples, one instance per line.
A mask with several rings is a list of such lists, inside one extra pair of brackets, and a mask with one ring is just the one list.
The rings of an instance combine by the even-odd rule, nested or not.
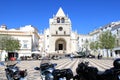
[[(40, 66), (42, 60), (32, 60), (32, 61), (21, 61), (17, 66), (21, 70), (27, 69), (28, 75), (27, 79), (28, 80), (41, 80), (40, 78), (40, 73), (39, 71), (34, 70), (34, 67)], [(112, 59), (81, 59), (81, 58), (75, 58), (73, 61), (69, 58), (65, 59), (59, 59), (59, 60), (50, 60), (51, 63), (57, 63), (56, 68), (57, 69), (65, 69), (65, 68), (71, 68), (74, 75), (76, 74), (76, 67), (78, 63), (82, 61), (89, 61), (90, 66), (97, 67), (100, 71), (104, 71), (105, 69), (109, 69), (110, 67), (113, 66), (113, 60)], [(5, 67), (0, 66), (0, 80), (7, 80), (5, 76)]]

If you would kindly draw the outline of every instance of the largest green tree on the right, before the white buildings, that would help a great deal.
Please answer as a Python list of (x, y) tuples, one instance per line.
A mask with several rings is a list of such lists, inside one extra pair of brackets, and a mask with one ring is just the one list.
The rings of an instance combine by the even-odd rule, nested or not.
[(101, 49), (107, 49), (107, 57), (108, 57), (108, 49), (112, 50), (115, 46), (115, 36), (112, 35), (110, 31), (105, 31), (99, 36), (99, 47)]

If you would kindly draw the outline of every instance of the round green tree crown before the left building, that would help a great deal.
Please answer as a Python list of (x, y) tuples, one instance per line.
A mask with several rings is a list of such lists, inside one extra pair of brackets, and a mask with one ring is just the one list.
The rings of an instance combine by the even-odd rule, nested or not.
[(0, 38), (0, 49), (7, 52), (16, 51), (20, 49), (19, 40), (12, 38), (11, 36), (2, 36)]

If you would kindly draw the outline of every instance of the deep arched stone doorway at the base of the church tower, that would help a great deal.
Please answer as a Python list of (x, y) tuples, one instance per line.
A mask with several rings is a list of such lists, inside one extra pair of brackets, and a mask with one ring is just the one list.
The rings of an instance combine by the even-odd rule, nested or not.
[(66, 41), (62, 38), (56, 40), (55, 50), (56, 51), (65, 51), (66, 50)]

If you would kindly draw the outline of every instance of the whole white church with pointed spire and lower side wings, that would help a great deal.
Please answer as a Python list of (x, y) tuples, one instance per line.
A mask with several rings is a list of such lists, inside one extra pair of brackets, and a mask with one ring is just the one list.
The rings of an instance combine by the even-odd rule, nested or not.
[(49, 28), (44, 31), (43, 51), (47, 54), (70, 54), (78, 50), (78, 34), (72, 31), (70, 18), (60, 7), (49, 19)]

